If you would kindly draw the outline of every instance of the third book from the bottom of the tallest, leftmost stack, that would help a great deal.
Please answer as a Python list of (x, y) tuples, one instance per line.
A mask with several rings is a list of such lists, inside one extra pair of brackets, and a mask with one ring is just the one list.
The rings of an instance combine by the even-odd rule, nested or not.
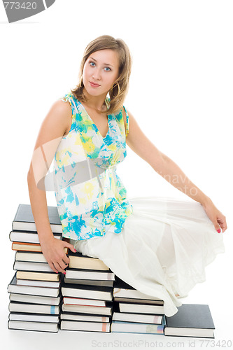
[(32, 314), (52, 314), (59, 315), (60, 307), (55, 305), (29, 304), (24, 302), (10, 302), (10, 312), (22, 312)]

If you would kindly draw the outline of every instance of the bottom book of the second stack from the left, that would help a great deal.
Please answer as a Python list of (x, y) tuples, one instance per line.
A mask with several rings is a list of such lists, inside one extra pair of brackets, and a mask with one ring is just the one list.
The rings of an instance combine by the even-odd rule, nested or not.
[(87, 331), (87, 332), (110, 332), (110, 323), (62, 320), (61, 321), (61, 330), (80, 330), (80, 331)]

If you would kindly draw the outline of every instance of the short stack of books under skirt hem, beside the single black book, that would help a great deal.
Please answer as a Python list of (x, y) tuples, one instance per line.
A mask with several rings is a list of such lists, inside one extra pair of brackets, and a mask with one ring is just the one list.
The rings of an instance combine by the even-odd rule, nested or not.
[(164, 334), (163, 300), (139, 292), (115, 276), (111, 332)]

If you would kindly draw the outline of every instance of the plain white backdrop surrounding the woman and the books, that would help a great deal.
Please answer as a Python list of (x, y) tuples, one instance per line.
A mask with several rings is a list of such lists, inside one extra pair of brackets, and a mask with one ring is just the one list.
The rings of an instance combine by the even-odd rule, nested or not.
[[(116, 343), (108, 347), (127, 349), (135, 347), (133, 339), (141, 341), (139, 349), (156, 347), (156, 341), (160, 347), (167, 342), (173, 343), (170, 347), (185, 342), (185, 349), (211, 347), (199, 339), (191, 345), (189, 338), (7, 329), (6, 288), (14, 274), (8, 235), (18, 204), (29, 204), (27, 171), (36, 136), (53, 102), (76, 86), (85, 46), (102, 34), (123, 38), (132, 52), (126, 108), (153, 144), (174, 160), (227, 217), (225, 254), (218, 255), (206, 268), (206, 281), (195, 286), (183, 302), (209, 304), (216, 325), (215, 342), (233, 342), (232, 10), (232, 1), (226, 0), (57, 0), (38, 15), (8, 24), (0, 3), (0, 326), (8, 349), (48, 349), (51, 344), (55, 349), (102, 349), (105, 342), (113, 340)], [(188, 198), (130, 148), (123, 163), (118, 174), (129, 197)], [(55, 205), (52, 193), (48, 194), (48, 204)]]

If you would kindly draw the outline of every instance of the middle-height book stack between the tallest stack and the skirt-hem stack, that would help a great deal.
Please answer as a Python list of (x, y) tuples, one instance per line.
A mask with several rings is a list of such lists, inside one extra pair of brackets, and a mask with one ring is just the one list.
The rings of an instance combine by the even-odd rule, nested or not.
[(61, 330), (110, 332), (115, 274), (98, 258), (69, 252)]

